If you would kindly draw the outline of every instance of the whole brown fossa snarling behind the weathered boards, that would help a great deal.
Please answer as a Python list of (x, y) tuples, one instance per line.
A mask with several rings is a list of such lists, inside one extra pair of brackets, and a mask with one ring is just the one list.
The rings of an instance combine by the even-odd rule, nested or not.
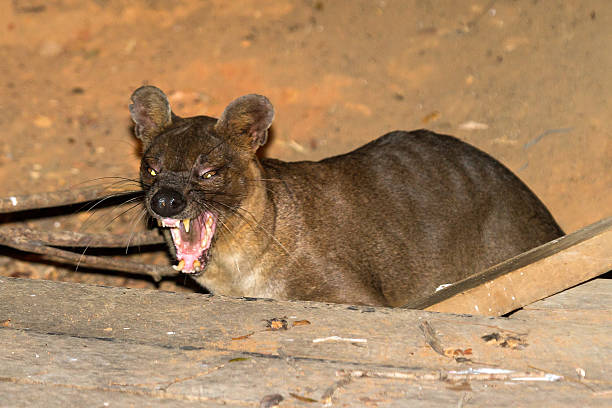
[(507, 168), (450, 136), (392, 132), (319, 162), (260, 161), (263, 96), (220, 119), (179, 118), (154, 87), (132, 101), (147, 208), (177, 269), (213, 293), (400, 306), (563, 234)]

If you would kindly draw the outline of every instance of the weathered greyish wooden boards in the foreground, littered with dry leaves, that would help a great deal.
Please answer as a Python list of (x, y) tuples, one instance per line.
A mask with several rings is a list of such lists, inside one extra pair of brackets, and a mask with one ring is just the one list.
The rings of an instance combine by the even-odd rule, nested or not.
[(601, 306), (508, 319), (0, 278), (0, 406), (605, 407)]

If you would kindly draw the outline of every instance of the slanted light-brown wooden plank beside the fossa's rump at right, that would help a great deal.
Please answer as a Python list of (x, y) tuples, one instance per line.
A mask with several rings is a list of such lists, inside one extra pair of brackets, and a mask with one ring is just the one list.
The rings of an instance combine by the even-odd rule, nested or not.
[(612, 217), (404, 307), (501, 316), (612, 269)]

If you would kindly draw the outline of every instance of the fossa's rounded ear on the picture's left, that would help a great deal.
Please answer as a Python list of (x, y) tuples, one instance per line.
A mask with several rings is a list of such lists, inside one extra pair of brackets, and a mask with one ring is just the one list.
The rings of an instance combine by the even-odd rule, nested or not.
[(147, 148), (155, 136), (172, 124), (168, 98), (161, 89), (147, 85), (135, 90), (130, 99), (134, 133)]

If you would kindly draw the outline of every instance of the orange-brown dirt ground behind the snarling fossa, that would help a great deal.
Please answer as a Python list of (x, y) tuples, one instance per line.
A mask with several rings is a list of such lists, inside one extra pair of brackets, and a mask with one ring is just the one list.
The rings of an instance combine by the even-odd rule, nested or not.
[[(612, 215), (608, 0), (5, 0), (0, 33), (0, 197), (136, 178), (127, 105), (154, 84), (181, 116), (268, 96), (270, 157), (425, 127), (502, 161), (566, 232)], [(142, 228), (140, 208), (114, 211), (3, 220)], [(31, 261), (0, 248), (5, 275), (154, 286)]]

